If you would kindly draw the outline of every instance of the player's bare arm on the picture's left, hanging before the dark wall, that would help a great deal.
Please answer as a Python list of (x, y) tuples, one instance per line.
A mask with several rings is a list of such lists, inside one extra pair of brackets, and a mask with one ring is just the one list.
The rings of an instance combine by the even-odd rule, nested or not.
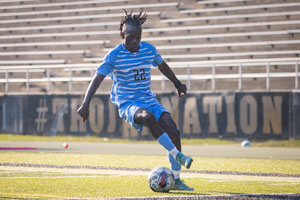
[(102, 74), (95, 74), (92, 81), (89, 84), (88, 89), (84, 95), (83, 102), (81, 106), (78, 108), (77, 113), (82, 117), (83, 122), (85, 122), (89, 117), (89, 106), (93, 95), (95, 94), (96, 90), (104, 80), (105, 76)]

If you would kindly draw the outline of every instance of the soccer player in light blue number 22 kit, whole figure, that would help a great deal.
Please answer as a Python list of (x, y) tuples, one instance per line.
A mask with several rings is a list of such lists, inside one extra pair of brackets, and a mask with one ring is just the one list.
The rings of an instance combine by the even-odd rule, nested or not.
[(175, 175), (174, 190), (194, 190), (180, 179), (181, 165), (189, 169), (193, 159), (181, 152), (180, 132), (170, 113), (150, 90), (150, 68), (158, 66), (161, 73), (173, 82), (179, 97), (186, 94), (186, 86), (176, 78), (156, 48), (141, 41), (142, 24), (147, 20), (147, 14), (124, 11), (125, 17), (120, 23), (123, 44), (105, 56), (77, 112), (83, 122), (88, 119), (91, 98), (105, 76), (110, 74), (113, 80), (110, 99), (118, 107), (120, 117), (139, 131), (147, 126), (158, 143), (169, 152), (169, 162)]

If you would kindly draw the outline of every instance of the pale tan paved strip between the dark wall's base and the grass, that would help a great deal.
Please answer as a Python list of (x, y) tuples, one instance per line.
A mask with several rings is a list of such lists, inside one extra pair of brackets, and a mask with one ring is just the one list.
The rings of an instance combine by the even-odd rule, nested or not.
[[(30, 152), (166, 155), (166, 151), (159, 144), (104, 142), (70, 142), (68, 144), (69, 148), (65, 149), (63, 142), (0, 141), (0, 147), (36, 148), (36, 150), (29, 150)], [(200, 157), (300, 160), (300, 148), (242, 148), (235, 145), (184, 145), (182, 149), (188, 155)]]

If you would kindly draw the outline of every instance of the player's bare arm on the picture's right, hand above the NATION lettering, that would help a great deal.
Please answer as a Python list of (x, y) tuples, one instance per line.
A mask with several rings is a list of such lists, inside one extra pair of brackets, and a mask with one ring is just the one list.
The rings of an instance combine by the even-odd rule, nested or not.
[(172, 81), (180, 97), (186, 94), (186, 85), (178, 80), (172, 69), (165, 61), (162, 61), (162, 63), (158, 65), (158, 69), (163, 75), (165, 75), (170, 81)]

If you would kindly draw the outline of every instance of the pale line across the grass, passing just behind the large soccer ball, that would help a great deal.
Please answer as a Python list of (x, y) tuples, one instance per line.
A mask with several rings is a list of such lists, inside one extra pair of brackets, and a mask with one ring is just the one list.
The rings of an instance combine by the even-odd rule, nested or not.
[[(23, 172), (57, 172), (68, 174), (100, 174), (100, 175), (120, 175), (120, 176), (148, 176), (150, 171), (130, 171), (130, 170), (106, 170), (106, 169), (67, 169), (67, 168), (33, 168), (33, 167), (10, 167), (0, 166), (0, 170), (12, 170)], [(67, 176), (66, 176), (67, 177)], [(300, 183), (299, 177), (276, 177), (276, 176), (249, 176), (249, 175), (226, 175), (226, 174), (202, 174), (182, 172), (183, 178), (203, 178), (217, 180), (234, 181), (272, 181), (283, 183)]]

